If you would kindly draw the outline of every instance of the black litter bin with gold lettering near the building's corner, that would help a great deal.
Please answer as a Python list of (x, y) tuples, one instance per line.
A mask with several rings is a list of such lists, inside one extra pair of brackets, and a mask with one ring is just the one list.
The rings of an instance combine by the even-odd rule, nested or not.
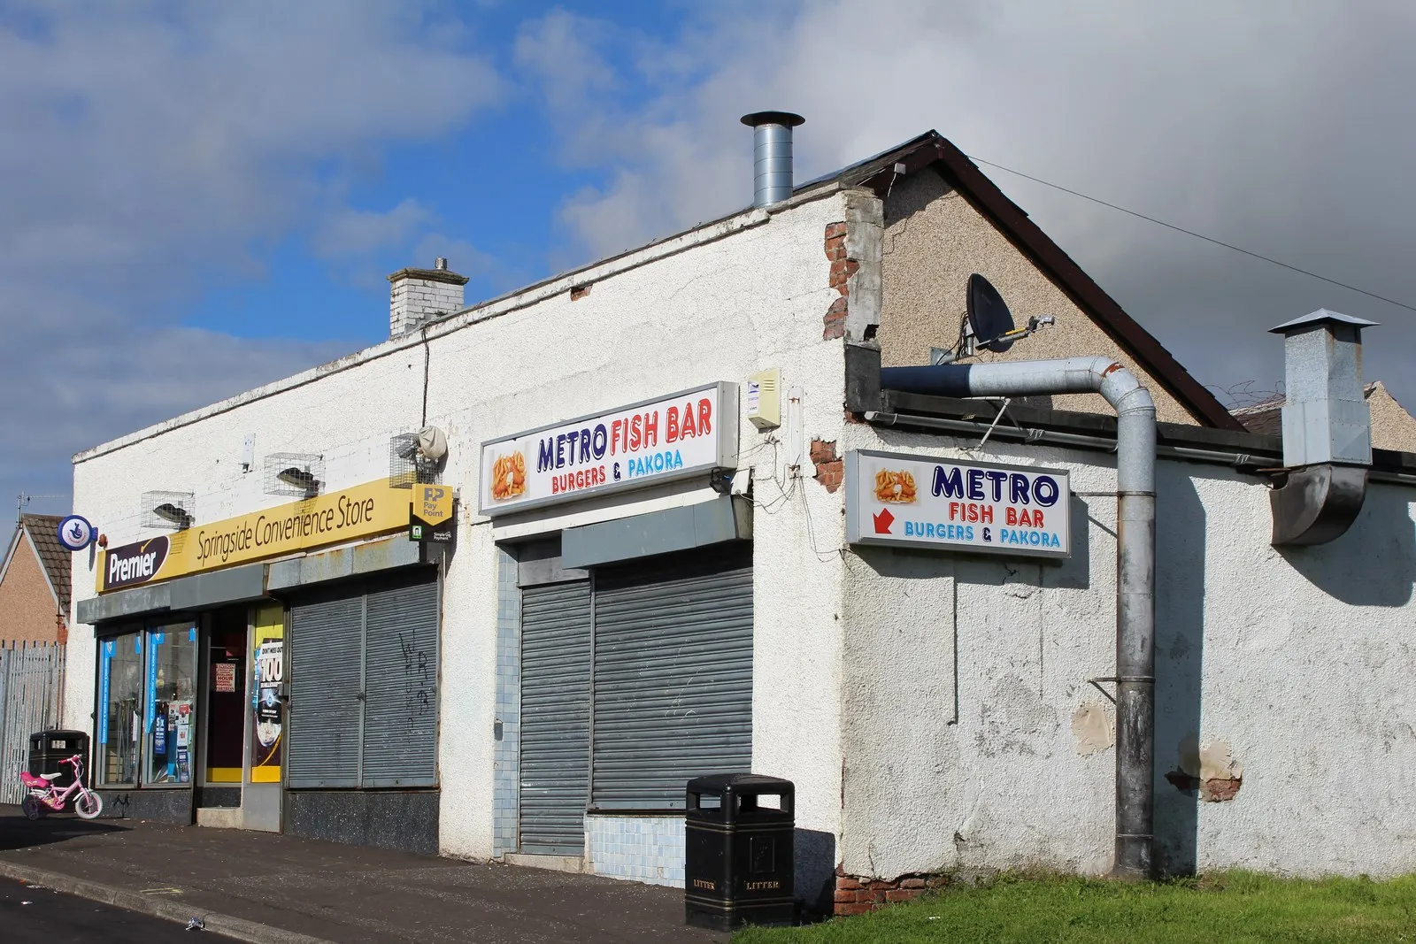
[[(796, 920), (796, 788), (760, 774), (688, 781), (684, 920), (726, 931)], [(776, 798), (776, 807), (766, 798)]]

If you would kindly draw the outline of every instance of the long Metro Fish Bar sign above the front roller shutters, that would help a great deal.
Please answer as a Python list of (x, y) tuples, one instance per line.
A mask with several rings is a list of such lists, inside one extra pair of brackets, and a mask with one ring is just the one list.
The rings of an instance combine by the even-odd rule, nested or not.
[(709, 384), (481, 444), (479, 510), (500, 515), (738, 464), (738, 385)]

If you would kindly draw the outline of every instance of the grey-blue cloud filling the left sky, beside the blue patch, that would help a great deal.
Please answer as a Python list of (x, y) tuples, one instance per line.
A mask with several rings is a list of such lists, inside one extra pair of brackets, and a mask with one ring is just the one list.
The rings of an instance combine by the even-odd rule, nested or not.
[[(351, 209), (391, 143), (496, 105), (435, 3), (0, 8), (0, 494), (68, 488), (67, 457), (351, 347), (177, 327), (249, 246), (331, 259), (416, 241), (426, 208)], [(377, 320), (377, 313), (372, 316)]]

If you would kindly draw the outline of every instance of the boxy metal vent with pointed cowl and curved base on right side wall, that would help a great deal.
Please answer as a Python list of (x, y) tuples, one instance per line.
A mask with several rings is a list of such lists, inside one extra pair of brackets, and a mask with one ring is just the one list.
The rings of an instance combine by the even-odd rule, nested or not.
[(1372, 416), (1362, 395), (1362, 328), (1375, 321), (1318, 309), (1270, 328), (1283, 335), (1283, 464), (1269, 493), (1274, 545), (1327, 543), (1366, 500)]

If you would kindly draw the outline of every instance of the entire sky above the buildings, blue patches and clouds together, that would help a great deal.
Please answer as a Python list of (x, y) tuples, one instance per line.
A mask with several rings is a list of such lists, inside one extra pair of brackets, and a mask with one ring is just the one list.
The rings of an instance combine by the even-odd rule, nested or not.
[[(1413, 45), (1405, 0), (0, 0), (0, 497), (381, 340), (396, 269), (476, 301), (745, 205), (760, 109), (799, 180), (933, 127), (1412, 301)], [(1202, 382), (1331, 307), (1416, 405), (1412, 311), (988, 173)]]

